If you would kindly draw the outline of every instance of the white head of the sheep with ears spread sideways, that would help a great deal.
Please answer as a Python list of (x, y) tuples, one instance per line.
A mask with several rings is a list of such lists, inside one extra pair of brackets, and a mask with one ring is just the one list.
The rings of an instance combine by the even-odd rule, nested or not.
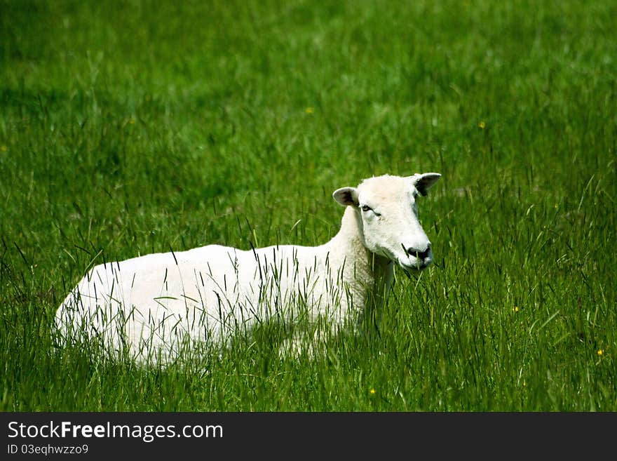
[(366, 248), (405, 271), (426, 269), (433, 262), (433, 250), (420, 225), (416, 198), (426, 195), (440, 177), (439, 173), (377, 176), (358, 187), (337, 189), (332, 196), (354, 208)]

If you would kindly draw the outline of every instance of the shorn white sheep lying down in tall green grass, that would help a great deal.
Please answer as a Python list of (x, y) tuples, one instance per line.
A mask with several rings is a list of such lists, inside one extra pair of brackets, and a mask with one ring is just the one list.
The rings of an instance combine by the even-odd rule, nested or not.
[[(439, 173), (381, 175), (332, 194), (346, 207), (339, 232), (309, 247), (240, 250), (208, 245), (153, 253), (90, 269), (55, 314), (63, 344), (100, 340), (135, 361), (169, 363), (183, 345), (226, 345), (240, 333), (273, 319), (293, 323), (304, 307), (311, 323), (326, 319), (330, 333), (381, 312), (394, 265), (405, 272), (433, 262), (416, 197)], [(280, 353), (312, 354), (299, 333)]]

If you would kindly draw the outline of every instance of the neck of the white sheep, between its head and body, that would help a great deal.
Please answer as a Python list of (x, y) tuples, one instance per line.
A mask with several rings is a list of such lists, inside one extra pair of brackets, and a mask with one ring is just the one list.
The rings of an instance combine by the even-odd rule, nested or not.
[[(344, 260), (344, 280), (362, 289), (356, 293), (364, 298), (365, 308), (381, 310), (388, 297), (394, 273), (393, 263), (368, 250), (362, 234), (362, 218), (353, 207), (345, 209), (341, 229), (329, 243), (330, 253)], [(353, 264), (351, 264), (353, 262)]]

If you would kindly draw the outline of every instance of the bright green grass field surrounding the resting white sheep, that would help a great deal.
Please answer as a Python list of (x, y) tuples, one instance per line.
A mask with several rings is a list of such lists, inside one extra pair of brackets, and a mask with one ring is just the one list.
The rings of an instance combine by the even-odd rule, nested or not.
[[(616, 411), (616, 29), (609, 1), (0, 0), (0, 410)], [(54, 352), (93, 262), (324, 243), (334, 189), (425, 171), (435, 264), (378, 336)]]

